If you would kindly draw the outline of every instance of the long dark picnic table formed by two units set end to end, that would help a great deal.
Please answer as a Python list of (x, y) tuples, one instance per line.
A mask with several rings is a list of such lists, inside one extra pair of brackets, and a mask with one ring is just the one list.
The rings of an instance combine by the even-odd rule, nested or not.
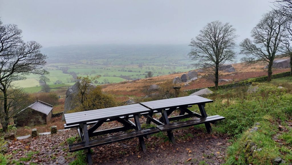
[[(175, 140), (172, 133), (173, 129), (198, 124), (205, 124), (207, 132), (211, 132), (210, 123), (214, 123), (218, 120), (223, 120), (225, 118), (219, 115), (207, 116), (204, 107), (205, 103), (210, 102), (213, 101), (199, 96), (186, 96), (157, 101), (148, 101), (140, 104), (132, 104), (127, 106), (119, 106), (64, 114), (66, 121), (64, 127), (65, 128), (76, 127), (79, 137), (81, 138), (82, 141), (75, 144), (69, 144), (69, 152), (85, 150), (87, 152), (88, 164), (91, 165), (92, 159), (90, 148), (92, 147), (138, 137), (141, 149), (145, 153), (146, 147), (144, 137), (147, 137), (151, 134), (160, 131), (167, 131), (168, 137), (173, 144), (175, 144)], [(188, 109), (193, 105), (199, 106), (201, 114), (195, 113)], [(180, 114), (178, 116), (168, 117), (171, 114), (173, 114), (175, 110), (180, 110)], [(160, 119), (153, 118), (153, 114), (155, 113), (161, 113), (162, 117)], [(146, 124), (150, 124), (151, 122), (153, 122), (157, 126), (141, 129), (141, 124), (139, 121), (140, 115), (144, 115), (147, 118)], [(171, 121), (191, 117), (197, 117), (198, 119), (170, 123)], [(129, 120), (130, 118), (134, 118), (134, 122)], [(97, 130), (103, 123), (109, 121), (117, 121), (123, 124), (123, 126), (107, 130)], [(87, 127), (88, 125), (91, 125), (89, 129)], [(89, 140), (90, 137), (107, 135), (110, 133), (133, 129), (135, 130), (131, 132), (124, 132), (116, 135), (99, 137), (93, 140)]]

